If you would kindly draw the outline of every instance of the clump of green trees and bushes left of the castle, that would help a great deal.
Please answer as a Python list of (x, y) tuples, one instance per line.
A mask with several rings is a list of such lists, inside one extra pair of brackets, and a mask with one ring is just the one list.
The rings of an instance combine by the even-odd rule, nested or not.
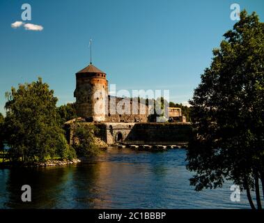
[[(0, 148), (8, 144), (6, 159), (11, 162), (36, 162), (86, 156), (94, 150), (94, 132), (77, 125), (77, 131), (90, 132), (84, 140), (70, 146), (65, 139), (63, 123), (77, 117), (75, 104), (56, 107), (54, 91), (38, 78), (31, 84), (20, 84), (6, 93), (6, 117), (0, 114)], [(79, 134), (80, 135), (80, 134)], [(85, 144), (85, 145), (84, 145)]]

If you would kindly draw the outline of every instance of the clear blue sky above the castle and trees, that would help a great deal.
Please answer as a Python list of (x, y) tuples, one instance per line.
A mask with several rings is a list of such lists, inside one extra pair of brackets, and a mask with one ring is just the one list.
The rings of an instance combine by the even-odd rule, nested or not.
[[(13, 29), (23, 3), (42, 31)], [(58, 105), (74, 102), (75, 72), (89, 63), (118, 89), (169, 89), (187, 102), (210, 66), (212, 49), (233, 27), (232, 3), (264, 22), (264, 1), (58, 0), (0, 1), (0, 112), (5, 92), (38, 76), (54, 89)]]

